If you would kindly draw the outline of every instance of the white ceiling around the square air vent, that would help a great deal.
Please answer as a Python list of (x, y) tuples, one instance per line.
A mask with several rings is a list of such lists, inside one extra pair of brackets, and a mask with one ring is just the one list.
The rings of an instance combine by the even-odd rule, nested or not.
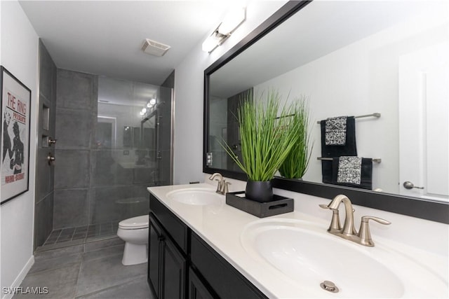
[[(235, 1), (234, 1), (235, 2)], [(233, 1), (20, 1), (56, 66), (161, 85)], [(171, 46), (143, 53), (145, 39)]]

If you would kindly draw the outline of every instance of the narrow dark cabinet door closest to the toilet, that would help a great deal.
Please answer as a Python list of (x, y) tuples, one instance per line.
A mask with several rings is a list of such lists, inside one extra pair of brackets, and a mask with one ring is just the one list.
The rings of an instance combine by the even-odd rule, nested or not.
[(163, 246), (162, 230), (150, 214), (148, 237), (148, 284), (156, 298), (161, 298), (161, 281), (159, 269), (161, 268), (161, 246)]

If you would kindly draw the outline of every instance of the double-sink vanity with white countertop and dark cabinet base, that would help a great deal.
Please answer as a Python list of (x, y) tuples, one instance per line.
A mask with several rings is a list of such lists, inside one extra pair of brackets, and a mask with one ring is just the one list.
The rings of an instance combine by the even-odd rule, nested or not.
[[(306, 207), (311, 200), (300, 198), (309, 195), (297, 193), (295, 211), (257, 218), (227, 205), (208, 183), (148, 190), (148, 281), (156, 298), (448, 295), (448, 257), (385, 237), (391, 231), (399, 234), (406, 224), (394, 214), (370, 211), (393, 225), (373, 223), (375, 246), (368, 247), (327, 232), (332, 213), (317, 204), (328, 204), (324, 198)], [(368, 208), (355, 209), (359, 217)], [(433, 224), (427, 222), (424, 227)], [(323, 289), (328, 288), (320, 286), (325, 281), (338, 293)]]

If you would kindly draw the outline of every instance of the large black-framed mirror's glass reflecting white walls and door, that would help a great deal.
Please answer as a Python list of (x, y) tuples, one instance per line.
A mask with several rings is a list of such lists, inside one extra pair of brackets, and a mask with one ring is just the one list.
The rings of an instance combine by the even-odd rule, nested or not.
[(238, 154), (241, 93), (275, 89), (309, 97), (304, 181), (323, 182), (318, 121), (380, 113), (355, 120), (357, 155), (380, 161), (371, 188), (448, 202), (448, 11), (446, 1), (311, 2), (209, 74), (209, 166), (239, 171), (218, 141)]

